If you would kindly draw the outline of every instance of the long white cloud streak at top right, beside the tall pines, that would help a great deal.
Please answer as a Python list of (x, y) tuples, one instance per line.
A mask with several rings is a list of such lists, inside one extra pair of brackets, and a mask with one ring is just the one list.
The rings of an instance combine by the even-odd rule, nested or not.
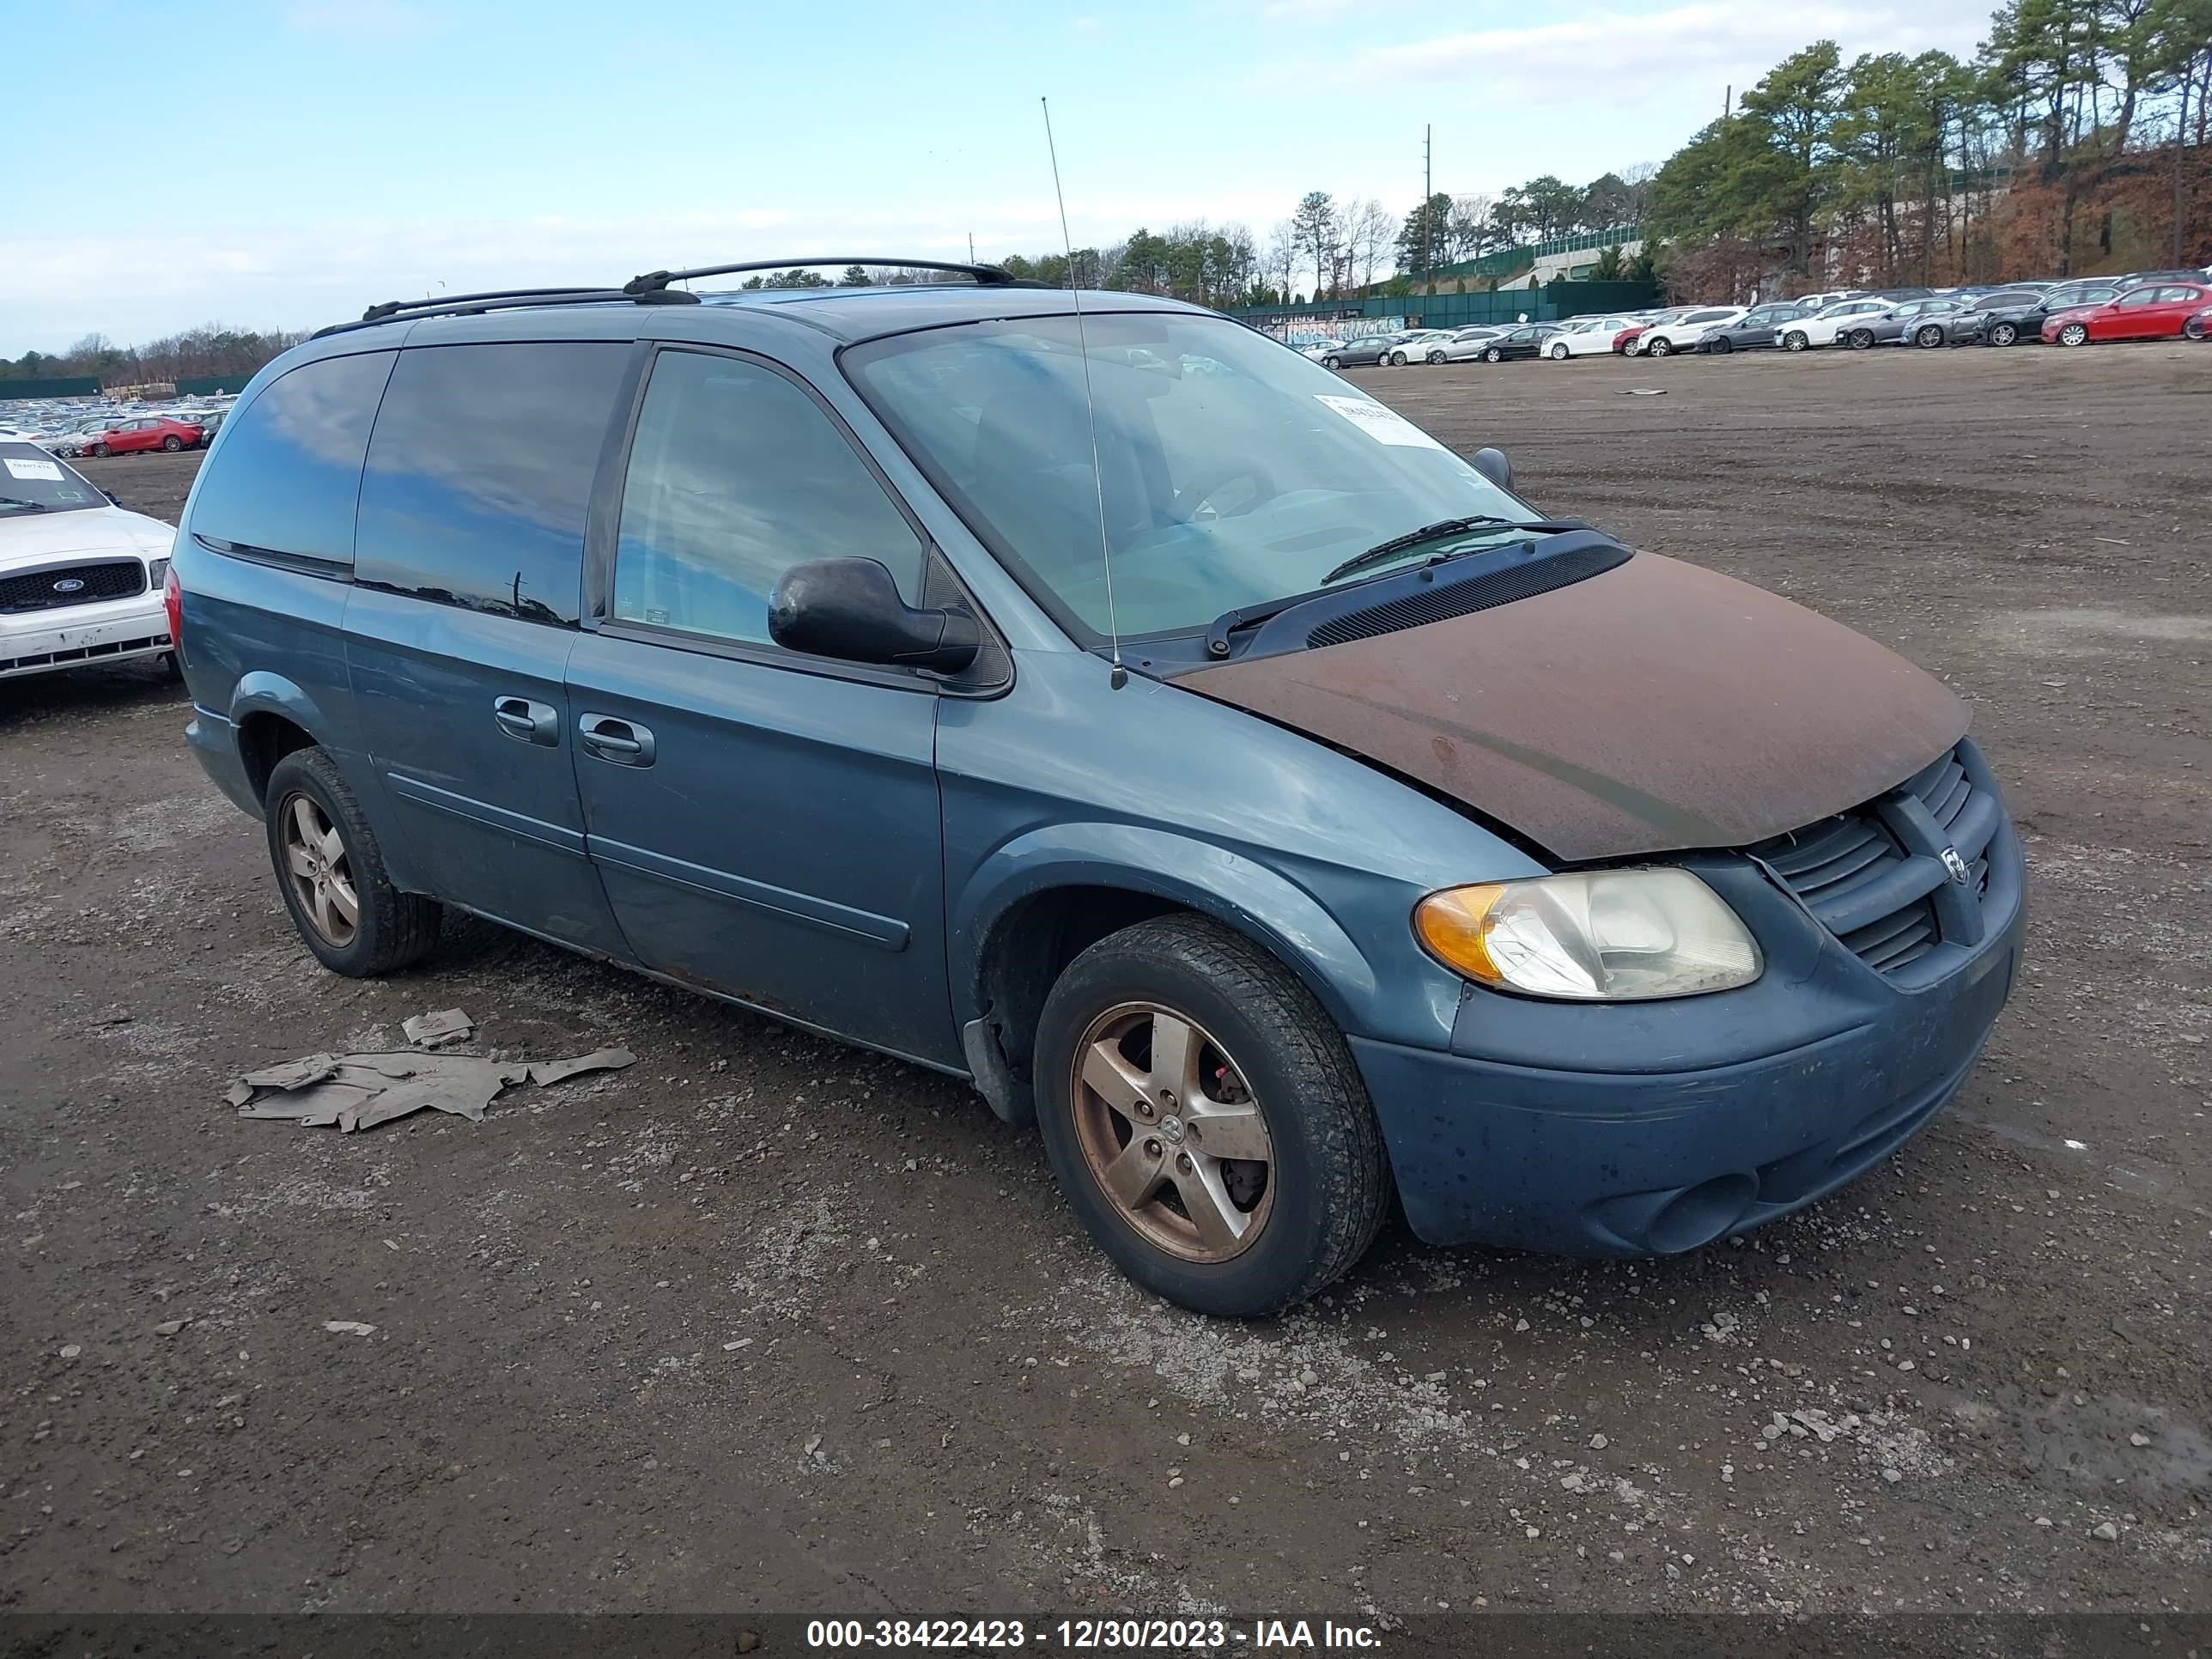
[(1986, 31), (1984, 0), (1918, 7), (1708, 0), (1365, 46), (1329, 60), (1279, 62), (1265, 73), (1279, 84), (1473, 82), (1471, 91), (1484, 100), (1619, 106), (1672, 95), (1683, 82), (1712, 82), (1714, 91), (1732, 82), (1743, 91), (1814, 40), (1834, 40), (1849, 62), (1863, 51), (1971, 53)]

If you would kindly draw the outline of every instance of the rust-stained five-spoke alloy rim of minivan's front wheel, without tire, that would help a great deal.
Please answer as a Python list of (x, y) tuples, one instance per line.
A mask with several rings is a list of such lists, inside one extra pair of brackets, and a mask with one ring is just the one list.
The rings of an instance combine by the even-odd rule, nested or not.
[(1075, 1044), (1068, 1099), (1084, 1166), (1146, 1243), (1230, 1261), (1274, 1208), (1274, 1139), (1237, 1060), (1157, 1002), (1106, 1009)]

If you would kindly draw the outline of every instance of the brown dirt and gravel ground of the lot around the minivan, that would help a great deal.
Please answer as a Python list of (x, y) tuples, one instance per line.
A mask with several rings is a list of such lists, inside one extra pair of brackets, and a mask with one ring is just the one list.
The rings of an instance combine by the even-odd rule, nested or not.
[[(942, 1077), (489, 927), (323, 975), (173, 686), (11, 681), (0, 1608), (2212, 1610), (2212, 349), (1352, 378), (1975, 706), (2033, 967), (1927, 1135), (1688, 1261), (1394, 1232), (1212, 1325)], [(86, 471), (175, 515), (192, 462)], [(641, 1062), (221, 1102), (453, 1004)]]

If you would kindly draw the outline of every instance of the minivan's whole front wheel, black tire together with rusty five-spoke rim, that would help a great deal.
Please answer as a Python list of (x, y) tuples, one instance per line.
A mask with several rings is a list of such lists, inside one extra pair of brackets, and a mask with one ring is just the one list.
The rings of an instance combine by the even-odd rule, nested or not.
[[(1175, 1110), (1150, 1104), (1161, 1022), (1190, 1053), (1159, 1091)], [(1108, 1106), (1079, 1079), (1102, 1053), (1126, 1084), (1108, 1091), (1130, 1104)], [(1124, 1274), (1183, 1307), (1256, 1318), (1303, 1303), (1352, 1270), (1387, 1214), (1383, 1133), (1343, 1033), (1290, 969), (1219, 922), (1161, 916), (1077, 956), (1037, 1020), (1035, 1082), (1044, 1150), (1077, 1219)], [(1214, 1113), (1248, 1108), (1239, 1146), (1265, 1159), (1203, 1150), (1214, 1115), (1183, 1108), (1192, 1084)], [(1108, 1192), (1108, 1168), (1133, 1197)]]

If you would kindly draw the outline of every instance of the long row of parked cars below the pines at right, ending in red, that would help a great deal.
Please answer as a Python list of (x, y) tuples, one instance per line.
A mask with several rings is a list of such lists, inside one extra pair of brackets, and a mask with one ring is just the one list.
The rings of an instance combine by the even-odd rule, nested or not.
[(2128, 276), (2008, 285), (1827, 292), (1761, 305), (1674, 305), (1659, 312), (1573, 316), (1462, 330), (1402, 330), (1321, 341), (1305, 356), (1332, 369), (1416, 363), (1566, 361), (1577, 356), (1672, 356), (1674, 352), (1814, 352), (1876, 345), (2093, 345), (2101, 341), (2212, 338), (2212, 270), (2150, 270)]

